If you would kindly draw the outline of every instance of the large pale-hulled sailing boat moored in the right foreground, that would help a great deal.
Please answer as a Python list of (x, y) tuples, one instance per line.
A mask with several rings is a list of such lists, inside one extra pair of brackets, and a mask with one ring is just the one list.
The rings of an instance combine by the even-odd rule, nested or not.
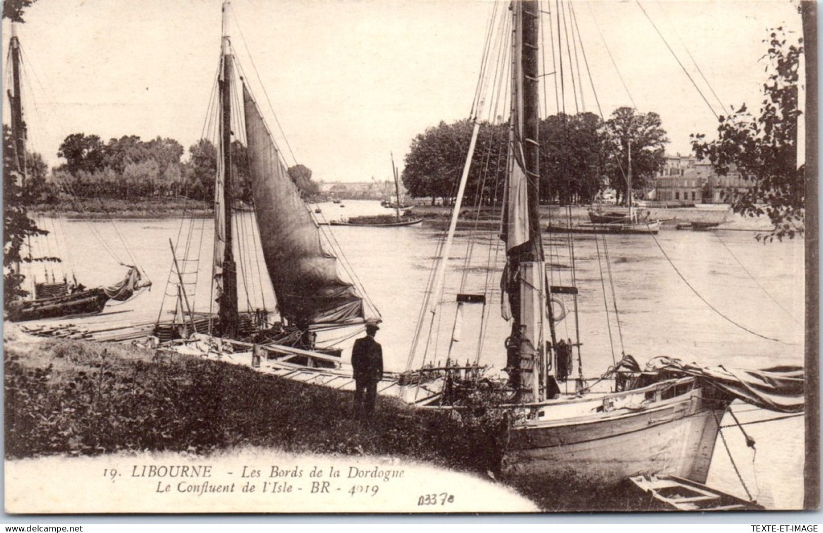
[[(452, 355), (460, 339), (460, 317), (469, 306), (485, 305), (485, 293), (458, 293), (444, 364), (435, 363), (425, 350), (436, 344), (432, 333), (425, 337), (426, 329), (439, 331), (435, 316), (442, 312), (444, 269), (480, 126), (475, 122), (449, 234), (427, 292), (407, 373), (401, 376), (403, 398), (421, 408), (466, 416), (477, 411), (505, 413), (506, 437), (495, 467), (504, 477), (569, 490), (577, 484), (588, 490), (612, 489), (640, 474), (702, 484), (730, 403), (740, 397), (776, 411), (801, 411), (802, 370), (713, 372), (667, 357), (653, 359), (641, 370), (632, 356), (624, 356), (597, 383), (584, 379), (582, 342), (560, 338), (556, 328), (567, 319), (564, 300), (572, 306), (568, 319), (574, 315), (577, 321), (578, 287), (551, 283), (537, 212), (541, 10), (537, 1), (524, 0), (512, 2), (510, 11), (512, 95), (501, 235), (506, 264), (500, 280), (502, 315), (509, 324), (502, 343), (508, 377), (487, 374), (480, 349), (477, 361), (465, 364)], [(570, 329), (579, 332), (577, 324)], [(760, 387), (766, 383), (770, 385)], [(598, 384), (609, 386), (598, 389)]]

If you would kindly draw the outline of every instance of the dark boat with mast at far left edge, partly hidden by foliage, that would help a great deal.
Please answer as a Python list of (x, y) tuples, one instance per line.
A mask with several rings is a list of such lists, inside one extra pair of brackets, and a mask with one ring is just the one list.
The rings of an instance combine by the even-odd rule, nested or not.
[[(9, 42), (12, 56), (12, 88), (8, 91), (12, 118), (12, 147), (14, 154), (12, 162), (14, 172), (21, 184), (26, 183), (26, 122), (23, 117), (21, 97), (21, 48), (17, 38), (16, 24), (12, 22), (12, 38)], [(61, 318), (75, 315), (97, 314), (103, 311), (109, 300), (127, 301), (137, 292), (151, 286), (151, 282), (144, 280), (136, 266), (125, 265), (128, 268), (126, 276), (110, 287), (95, 287), (87, 289), (76, 280), (70, 283), (67, 278), (62, 282), (48, 279), (44, 283), (34, 283), (34, 294), (31, 299), (12, 301), (7, 305), (7, 318), (12, 322), (26, 320)], [(20, 265), (15, 265), (20, 273)]]

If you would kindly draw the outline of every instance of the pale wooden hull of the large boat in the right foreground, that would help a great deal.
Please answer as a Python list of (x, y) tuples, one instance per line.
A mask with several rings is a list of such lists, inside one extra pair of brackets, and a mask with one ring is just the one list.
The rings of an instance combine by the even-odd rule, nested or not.
[(504, 476), (543, 476), (597, 487), (630, 476), (667, 474), (703, 483), (709, 472), (718, 420), (728, 401), (704, 399), (700, 387), (644, 409), (530, 421), (513, 428)]

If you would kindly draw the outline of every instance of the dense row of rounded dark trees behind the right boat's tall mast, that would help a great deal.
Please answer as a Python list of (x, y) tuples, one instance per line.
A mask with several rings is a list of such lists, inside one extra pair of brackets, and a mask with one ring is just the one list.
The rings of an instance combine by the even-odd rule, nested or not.
[[(472, 136), (468, 121), (440, 122), (412, 140), (403, 183), (412, 196), (452, 200)], [(477, 137), (467, 196), (502, 199), (509, 126), (484, 123)], [(663, 167), (668, 139), (657, 113), (618, 108), (607, 121), (593, 113), (547, 117), (540, 124), (542, 201), (590, 203), (605, 184), (624, 199), (631, 150), (632, 189), (642, 191)]]

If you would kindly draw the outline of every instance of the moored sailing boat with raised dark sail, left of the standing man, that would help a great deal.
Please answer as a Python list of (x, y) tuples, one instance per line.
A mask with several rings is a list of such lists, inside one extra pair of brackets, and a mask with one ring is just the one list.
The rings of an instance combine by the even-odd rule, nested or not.
[[(170, 341), (175, 349), (208, 353), (214, 342), (219, 342), (221, 351), (250, 352), (253, 345), (249, 341), (253, 341), (258, 357), (262, 351), (281, 362), (324, 368), (339, 366), (342, 350), (319, 347), (317, 334), (361, 328), (366, 319), (379, 320), (379, 311), (362, 288), (340, 276), (338, 267), (342, 266), (356, 279), (348, 265), (333, 253), (333, 237), (328, 235), (328, 229), (319, 226), (289, 177), (272, 131), (245, 77), (239, 76), (242, 67), (236, 61), (227, 31), (229, 10), (230, 2), (224, 2), (216, 99), (219, 127), (210, 310), (212, 302), (216, 302), (218, 309), (216, 313), (193, 309), (193, 296), (188, 293), (186, 272), (181, 267), (189, 261), (188, 250), (178, 260), (173, 245), (170, 278), (176, 283), (169, 296), (174, 297), (175, 318), (170, 323), (158, 320), (155, 333), (160, 341)], [(241, 81), (241, 99), (235, 95), (235, 77)], [(242, 102), (242, 110), (232, 108), (232, 103), (238, 101)], [(232, 117), (237, 115), (241, 115), (243, 123), (233, 123)], [(253, 227), (244, 225), (247, 221), (243, 217), (248, 214), (235, 214), (235, 190), (239, 187), (233, 146), (243, 140), (254, 204)], [(252, 250), (241, 250), (249, 238), (253, 240)], [(258, 254), (257, 246), (265, 263), (265, 280), (250, 278), (254, 270), (251, 263), (256, 264), (250, 256)], [(248, 253), (235, 256), (235, 248)], [(279, 321), (272, 320), (265, 301), (258, 308), (239, 309), (239, 273), (247, 298), (250, 286), (271, 283)]]

